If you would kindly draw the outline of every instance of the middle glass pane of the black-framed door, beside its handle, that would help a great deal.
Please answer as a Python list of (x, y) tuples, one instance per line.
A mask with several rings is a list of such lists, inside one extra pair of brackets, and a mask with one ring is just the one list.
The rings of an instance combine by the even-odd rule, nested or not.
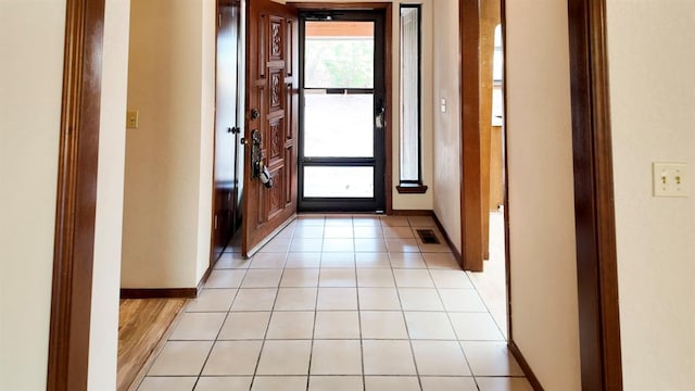
[(374, 94), (305, 91), (304, 156), (372, 157)]

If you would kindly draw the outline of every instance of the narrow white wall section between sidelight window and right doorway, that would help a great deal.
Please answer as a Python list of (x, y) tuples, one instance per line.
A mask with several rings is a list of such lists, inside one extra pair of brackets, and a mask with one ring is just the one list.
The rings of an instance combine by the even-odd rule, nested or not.
[[(433, 7), (433, 97), (428, 102), (433, 114), (433, 210), (454, 247), (462, 251), (460, 230), (460, 45), (458, 1), (437, 0)], [(446, 100), (442, 113), (440, 99)]]

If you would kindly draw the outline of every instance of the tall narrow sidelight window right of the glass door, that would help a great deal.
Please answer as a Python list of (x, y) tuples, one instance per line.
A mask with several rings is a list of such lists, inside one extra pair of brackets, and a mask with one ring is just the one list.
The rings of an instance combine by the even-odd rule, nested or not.
[(401, 9), (401, 180), (419, 181), (419, 9)]

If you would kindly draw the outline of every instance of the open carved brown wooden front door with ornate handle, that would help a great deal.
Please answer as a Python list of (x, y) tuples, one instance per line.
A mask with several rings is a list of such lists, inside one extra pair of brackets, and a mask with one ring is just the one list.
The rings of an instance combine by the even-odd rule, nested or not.
[(242, 239), (247, 256), (296, 214), (299, 106), (298, 12), (270, 0), (248, 4)]

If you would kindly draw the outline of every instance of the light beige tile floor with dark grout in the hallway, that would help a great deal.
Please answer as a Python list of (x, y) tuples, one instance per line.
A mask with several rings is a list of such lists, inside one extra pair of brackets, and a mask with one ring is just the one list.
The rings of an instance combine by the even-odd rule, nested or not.
[[(140, 383), (152, 390), (531, 390), (430, 217), (300, 216), (217, 262)], [(479, 282), (479, 281), (476, 281)]]

